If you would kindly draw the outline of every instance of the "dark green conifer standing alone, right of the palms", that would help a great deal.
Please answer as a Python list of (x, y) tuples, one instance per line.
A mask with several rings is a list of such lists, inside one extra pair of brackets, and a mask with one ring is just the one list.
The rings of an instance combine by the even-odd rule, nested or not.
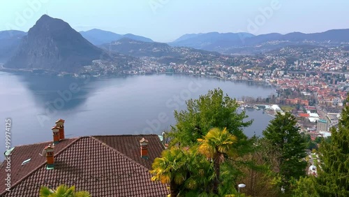
[(263, 131), (267, 145), (269, 161), (272, 161), (273, 171), (279, 178), (279, 186), (289, 191), (290, 180), (296, 180), (305, 175), (306, 161), (304, 157), (305, 141), (299, 133), (299, 127), (293, 115), (278, 112)]

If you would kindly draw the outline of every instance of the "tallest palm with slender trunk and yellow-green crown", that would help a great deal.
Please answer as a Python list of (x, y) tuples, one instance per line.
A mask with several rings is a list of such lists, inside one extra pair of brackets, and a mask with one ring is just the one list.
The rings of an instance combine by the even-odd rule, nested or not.
[(225, 161), (225, 155), (235, 156), (233, 144), (237, 142), (237, 138), (230, 134), (225, 128), (223, 131), (218, 128), (210, 129), (203, 139), (198, 139), (200, 143), (198, 151), (204, 154), (208, 159), (214, 162), (214, 194), (218, 194), (218, 186), (220, 184), (221, 163)]

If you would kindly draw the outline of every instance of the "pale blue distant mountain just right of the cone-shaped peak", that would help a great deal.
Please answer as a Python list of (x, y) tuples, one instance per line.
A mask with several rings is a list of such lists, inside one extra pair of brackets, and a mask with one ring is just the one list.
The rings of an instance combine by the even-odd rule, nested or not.
[(80, 34), (84, 36), (90, 43), (94, 45), (102, 45), (105, 43), (110, 43), (112, 41), (117, 41), (121, 38), (131, 38), (135, 41), (143, 41), (143, 42), (154, 42), (150, 38), (145, 38), (143, 36), (137, 36), (133, 34), (115, 34), (111, 31), (104, 31), (101, 29), (91, 29), (89, 31), (80, 31)]

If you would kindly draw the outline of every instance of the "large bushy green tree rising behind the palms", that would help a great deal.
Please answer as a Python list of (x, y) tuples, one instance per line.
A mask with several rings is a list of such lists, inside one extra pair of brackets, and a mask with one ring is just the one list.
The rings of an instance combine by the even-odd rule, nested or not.
[(198, 138), (203, 138), (210, 129), (216, 127), (226, 128), (237, 137), (235, 149), (239, 154), (250, 151), (251, 142), (243, 128), (250, 126), (252, 121), (244, 122), (247, 117), (245, 112), (238, 112), (239, 103), (224, 95), (222, 89), (209, 90), (208, 94), (200, 96), (199, 99), (186, 101), (186, 105), (186, 110), (174, 111), (177, 124), (172, 126), (169, 133), (172, 145), (195, 145)]

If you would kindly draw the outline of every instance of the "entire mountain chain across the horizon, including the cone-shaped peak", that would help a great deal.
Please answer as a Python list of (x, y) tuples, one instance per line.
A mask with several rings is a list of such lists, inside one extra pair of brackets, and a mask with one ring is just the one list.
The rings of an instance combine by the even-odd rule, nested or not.
[[(98, 47), (96, 46), (98, 45)], [(43, 15), (28, 33), (0, 31), (0, 63), (7, 68), (42, 68), (75, 72), (94, 59), (126, 62), (137, 57), (155, 57), (159, 62), (196, 62), (224, 54), (256, 54), (286, 45), (349, 46), (349, 29), (315, 34), (248, 33), (185, 34), (172, 43), (156, 43), (133, 34), (115, 34), (101, 29), (77, 32), (63, 20)], [(122, 54), (122, 55), (121, 55)], [(125, 56), (124, 54), (128, 55)], [(130, 57), (132, 56), (132, 57)], [(199, 60), (200, 61), (200, 60)]]

